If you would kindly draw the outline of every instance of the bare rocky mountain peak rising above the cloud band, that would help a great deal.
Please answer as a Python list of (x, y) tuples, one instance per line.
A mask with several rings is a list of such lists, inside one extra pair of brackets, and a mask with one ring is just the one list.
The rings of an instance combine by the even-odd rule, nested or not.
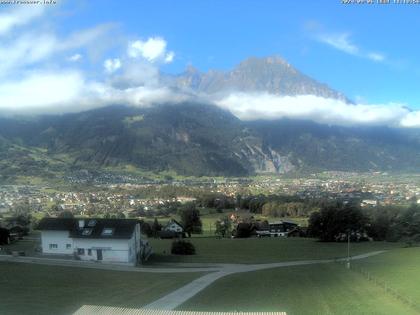
[(279, 56), (250, 57), (232, 70), (201, 72), (189, 66), (176, 76), (166, 76), (165, 84), (195, 93), (268, 92), (282, 96), (315, 95), (351, 101), (341, 92), (303, 74)]

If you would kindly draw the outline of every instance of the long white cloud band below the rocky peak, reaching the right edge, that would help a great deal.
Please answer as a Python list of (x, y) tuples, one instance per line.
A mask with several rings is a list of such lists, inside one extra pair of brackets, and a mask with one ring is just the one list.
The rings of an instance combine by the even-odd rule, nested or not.
[(344, 126), (420, 126), (420, 112), (410, 112), (403, 104), (395, 103), (353, 105), (314, 95), (268, 93), (231, 93), (216, 103), (243, 120), (291, 118)]

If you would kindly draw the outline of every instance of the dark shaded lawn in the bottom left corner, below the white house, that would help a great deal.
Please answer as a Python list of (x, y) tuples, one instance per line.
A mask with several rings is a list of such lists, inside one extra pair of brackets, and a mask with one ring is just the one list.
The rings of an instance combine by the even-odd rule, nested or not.
[(83, 304), (141, 307), (200, 274), (0, 263), (0, 314), (71, 314)]

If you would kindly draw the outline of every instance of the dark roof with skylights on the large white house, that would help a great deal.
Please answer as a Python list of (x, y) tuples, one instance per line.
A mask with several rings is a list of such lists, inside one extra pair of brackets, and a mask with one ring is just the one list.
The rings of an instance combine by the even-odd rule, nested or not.
[(43, 218), (38, 224), (38, 230), (69, 231), (72, 238), (129, 239), (138, 223), (138, 220), (133, 219)]

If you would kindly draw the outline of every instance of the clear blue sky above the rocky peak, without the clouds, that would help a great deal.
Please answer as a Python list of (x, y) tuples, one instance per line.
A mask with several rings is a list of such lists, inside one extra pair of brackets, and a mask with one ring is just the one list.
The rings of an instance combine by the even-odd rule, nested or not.
[[(161, 36), (176, 53), (163, 67), (229, 69), (249, 56), (283, 56), (302, 72), (367, 102), (420, 108), (420, 5), (343, 5), (320, 1), (89, 1), (62, 28), (115, 22), (128, 36)], [(352, 54), (320, 40), (346, 35)], [(375, 61), (364, 56), (377, 53)]]

